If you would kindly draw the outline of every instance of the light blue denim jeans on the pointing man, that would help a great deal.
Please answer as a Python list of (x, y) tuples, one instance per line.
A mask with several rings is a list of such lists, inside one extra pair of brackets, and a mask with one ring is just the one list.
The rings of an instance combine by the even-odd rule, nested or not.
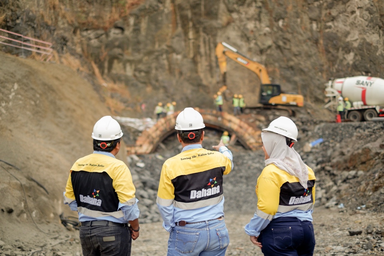
[(167, 256), (224, 256), (228, 244), (224, 220), (175, 226), (169, 234)]

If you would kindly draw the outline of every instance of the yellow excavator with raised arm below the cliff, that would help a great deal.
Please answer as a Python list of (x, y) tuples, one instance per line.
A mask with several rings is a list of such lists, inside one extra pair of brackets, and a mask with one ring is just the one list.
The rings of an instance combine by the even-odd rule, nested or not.
[[(271, 84), (264, 65), (250, 60), (245, 55), (242, 55), (238, 50), (225, 42), (220, 42), (216, 46), (216, 57), (220, 68), (220, 73), (223, 77), (223, 83), (226, 85), (225, 75), (227, 73), (227, 57), (234, 60), (238, 64), (245, 66), (249, 70), (256, 73), (260, 78), (260, 98), (259, 103), (263, 106), (269, 105), (294, 105), (302, 107), (304, 105), (303, 95), (281, 93), (280, 85)], [(247, 108), (255, 108), (257, 106), (247, 106)], [(279, 108), (276, 106), (276, 108)], [(287, 108), (281, 108), (290, 111)], [(292, 114), (292, 112), (290, 111)]]

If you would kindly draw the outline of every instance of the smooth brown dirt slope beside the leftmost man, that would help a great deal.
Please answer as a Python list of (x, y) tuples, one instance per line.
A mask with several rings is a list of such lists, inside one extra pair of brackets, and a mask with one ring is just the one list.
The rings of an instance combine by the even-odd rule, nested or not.
[(0, 58), (0, 237), (12, 240), (31, 236), (34, 222), (60, 223), (63, 211), (76, 216), (63, 205), (69, 168), (92, 153), (93, 125), (110, 112), (66, 66)]

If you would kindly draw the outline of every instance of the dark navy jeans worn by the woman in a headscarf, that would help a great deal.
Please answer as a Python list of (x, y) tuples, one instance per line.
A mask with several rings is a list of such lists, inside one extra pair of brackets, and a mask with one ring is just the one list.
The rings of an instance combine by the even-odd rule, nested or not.
[(316, 243), (312, 222), (294, 217), (273, 219), (258, 241), (262, 243), (262, 253), (270, 256), (312, 256)]

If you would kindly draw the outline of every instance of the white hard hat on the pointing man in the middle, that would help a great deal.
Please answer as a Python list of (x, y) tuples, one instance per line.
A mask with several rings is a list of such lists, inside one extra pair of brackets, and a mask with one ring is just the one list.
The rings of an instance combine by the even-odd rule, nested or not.
[(198, 130), (204, 127), (203, 117), (193, 108), (184, 108), (176, 118), (176, 130)]

